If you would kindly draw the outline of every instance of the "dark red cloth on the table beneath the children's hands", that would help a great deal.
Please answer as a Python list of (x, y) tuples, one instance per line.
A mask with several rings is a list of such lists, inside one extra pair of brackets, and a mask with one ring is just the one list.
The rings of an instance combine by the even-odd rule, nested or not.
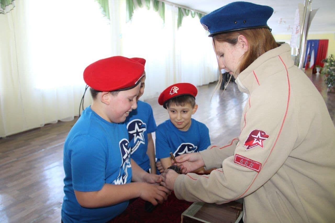
[(191, 206), (192, 202), (178, 200), (175, 194), (171, 195), (163, 204), (158, 206), (151, 212), (144, 209), (145, 201), (141, 198), (131, 203), (121, 215), (115, 217), (110, 223), (116, 222), (181, 222), (182, 213)]

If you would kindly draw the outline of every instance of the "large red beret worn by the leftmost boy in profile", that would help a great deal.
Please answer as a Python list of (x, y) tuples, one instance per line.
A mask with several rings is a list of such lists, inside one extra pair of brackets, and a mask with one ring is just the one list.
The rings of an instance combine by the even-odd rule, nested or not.
[(98, 60), (84, 70), (85, 83), (98, 91), (127, 90), (143, 76), (144, 66), (126, 57)]

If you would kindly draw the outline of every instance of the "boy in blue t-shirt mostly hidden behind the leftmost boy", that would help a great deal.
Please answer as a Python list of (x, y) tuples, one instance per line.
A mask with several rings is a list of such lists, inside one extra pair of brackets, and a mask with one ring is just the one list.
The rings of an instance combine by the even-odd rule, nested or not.
[[(145, 66), (145, 59), (130, 58)], [(137, 108), (126, 119), (131, 158), (145, 171), (156, 174), (155, 146), (151, 133), (157, 128), (150, 104), (138, 100), (144, 93), (146, 74), (141, 78)]]

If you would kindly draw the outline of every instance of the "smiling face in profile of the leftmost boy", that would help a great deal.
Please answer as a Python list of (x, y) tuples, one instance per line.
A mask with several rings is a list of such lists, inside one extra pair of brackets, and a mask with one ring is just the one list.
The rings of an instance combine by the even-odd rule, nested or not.
[(116, 96), (110, 94), (108, 117), (111, 122), (124, 122), (130, 111), (137, 108), (136, 97), (139, 89), (140, 85), (138, 84), (132, 89), (120, 91)]

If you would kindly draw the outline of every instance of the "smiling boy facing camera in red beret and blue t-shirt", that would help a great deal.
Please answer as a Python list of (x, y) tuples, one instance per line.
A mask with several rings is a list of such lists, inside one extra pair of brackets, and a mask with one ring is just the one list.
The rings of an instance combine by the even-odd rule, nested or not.
[[(177, 83), (167, 87), (158, 97), (158, 103), (169, 113), (170, 120), (156, 129), (156, 158), (159, 172), (172, 165), (174, 156), (199, 152), (210, 146), (209, 131), (205, 124), (192, 119), (197, 111), (197, 88), (190, 83)], [(204, 169), (196, 172), (204, 173)]]

